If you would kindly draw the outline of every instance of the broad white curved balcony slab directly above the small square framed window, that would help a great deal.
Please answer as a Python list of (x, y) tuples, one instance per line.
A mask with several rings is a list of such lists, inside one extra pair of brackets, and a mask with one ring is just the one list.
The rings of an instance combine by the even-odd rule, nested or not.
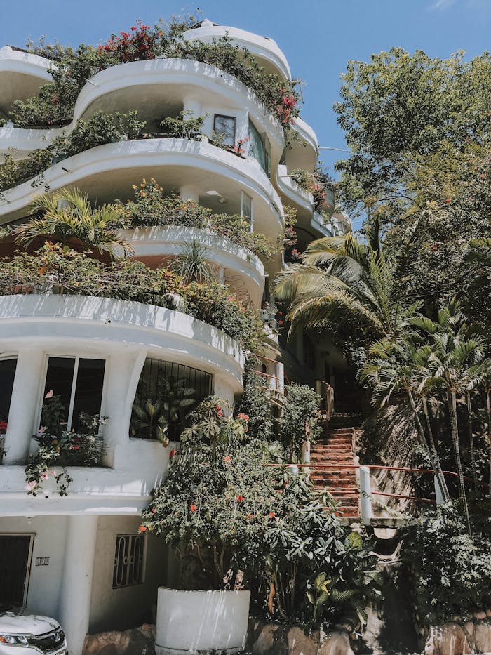
[[(40, 58), (39, 58), (40, 59)], [(74, 118), (64, 128), (0, 128), (0, 152), (15, 147), (23, 152), (46, 147), (62, 132), (69, 133), (79, 118), (95, 112), (137, 110), (147, 121), (149, 131), (166, 116), (191, 108), (194, 114), (243, 114), (237, 117), (237, 138), (248, 134), (246, 113), (271, 142), (271, 160), (276, 164), (283, 151), (283, 130), (247, 86), (215, 66), (187, 59), (154, 59), (112, 66), (97, 73), (82, 88), (76, 100)], [(203, 131), (211, 133), (213, 119), (208, 117)]]

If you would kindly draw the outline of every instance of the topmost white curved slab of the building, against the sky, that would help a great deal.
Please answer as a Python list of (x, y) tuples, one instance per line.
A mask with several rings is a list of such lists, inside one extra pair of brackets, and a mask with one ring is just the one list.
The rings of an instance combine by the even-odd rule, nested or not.
[(276, 41), (268, 37), (260, 37), (258, 34), (237, 27), (215, 25), (210, 20), (203, 20), (200, 27), (187, 30), (183, 36), (187, 41), (203, 41), (203, 43), (210, 43), (220, 37), (229, 37), (234, 46), (247, 48), (268, 73), (275, 73), (283, 79), (292, 79), (285, 55), (278, 48)]

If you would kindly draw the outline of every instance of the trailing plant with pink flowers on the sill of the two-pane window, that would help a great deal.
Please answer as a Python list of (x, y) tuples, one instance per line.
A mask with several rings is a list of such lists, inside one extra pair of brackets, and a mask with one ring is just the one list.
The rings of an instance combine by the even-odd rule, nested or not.
[[(27, 494), (36, 496), (50, 477), (55, 479), (58, 494), (67, 496), (72, 477), (65, 466), (97, 466), (104, 450), (104, 440), (98, 434), (100, 425), (107, 423), (107, 417), (90, 416), (81, 413), (83, 432), (70, 432), (65, 429), (65, 407), (59, 395), (53, 390), (45, 397), (41, 413), (41, 428), (35, 437), (39, 448), (29, 456), (25, 468)], [(62, 471), (53, 470), (53, 466), (61, 466)]]

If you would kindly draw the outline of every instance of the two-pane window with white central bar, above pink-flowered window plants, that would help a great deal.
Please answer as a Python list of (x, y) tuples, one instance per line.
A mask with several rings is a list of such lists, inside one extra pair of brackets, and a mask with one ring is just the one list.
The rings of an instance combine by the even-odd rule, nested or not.
[(53, 390), (65, 407), (67, 430), (80, 427), (80, 413), (100, 413), (105, 360), (84, 357), (50, 357), (44, 396)]

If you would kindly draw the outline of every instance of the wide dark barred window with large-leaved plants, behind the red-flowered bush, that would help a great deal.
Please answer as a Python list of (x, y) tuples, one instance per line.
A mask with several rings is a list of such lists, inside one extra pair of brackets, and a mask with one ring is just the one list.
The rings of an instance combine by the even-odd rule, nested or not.
[(138, 383), (130, 436), (177, 440), (196, 404), (211, 394), (212, 376), (191, 366), (146, 359)]

